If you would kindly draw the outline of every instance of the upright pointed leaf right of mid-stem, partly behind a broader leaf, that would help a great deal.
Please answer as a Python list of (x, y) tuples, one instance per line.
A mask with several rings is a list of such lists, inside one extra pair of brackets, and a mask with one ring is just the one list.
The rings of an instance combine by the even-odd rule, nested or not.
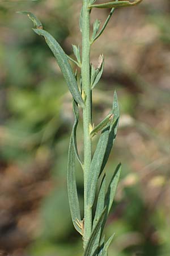
[(120, 113), (119, 113), (119, 108), (118, 108), (118, 100), (117, 100), (117, 93), (114, 92), (114, 98), (113, 98), (113, 119), (111, 122), (111, 126), (110, 126), (110, 131), (109, 131), (109, 139), (108, 139), (108, 144), (107, 144), (107, 148), (105, 151), (105, 155), (104, 155), (104, 159), (103, 159), (103, 164), (101, 166), (101, 172), (103, 172), (104, 167), (108, 161), (109, 155), (111, 154), (111, 150), (114, 144), (114, 141), (116, 139), (116, 135), (117, 135), (117, 129), (118, 129), (118, 122), (119, 122), (119, 117), (120, 117)]

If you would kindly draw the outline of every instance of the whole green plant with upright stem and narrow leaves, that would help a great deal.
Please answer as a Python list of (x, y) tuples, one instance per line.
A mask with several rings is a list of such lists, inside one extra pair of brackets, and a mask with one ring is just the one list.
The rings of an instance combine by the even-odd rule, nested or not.
[[(84, 256), (107, 256), (108, 247), (113, 236), (105, 241), (104, 226), (111, 210), (118, 180), (121, 174), (121, 164), (118, 164), (113, 173), (111, 181), (106, 188), (105, 165), (111, 153), (116, 138), (120, 113), (118, 109), (117, 94), (114, 92), (113, 105), (108, 115), (98, 125), (92, 125), (92, 95), (98, 84), (104, 69), (104, 56), (100, 55), (98, 67), (95, 68), (90, 62), (91, 45), (103, 34), (114, 10), (121, 7), (135, 6), (142, 0), (111, 1), (97, 4), (96, 0), (83, 0), (80, 13), (79, 27), (82, 32), (82, 54), (80, 47), (73, 45), (75, 59), (67, 56), (57, 40), (49, 32), (42, 29), (42, 24), (35, 15), (27, 11), (20, 13), (28, 15), (35, 28), (37, 35), (44, 37), (49, 48), (57, 60), (59, 68), (66, 80), (67, 86), (73, 97), (74, 124), (71, 132), (68, 165), (67, 165), (67, 187), (69, 194), (70, 212), (75, 229), (83, 238)], [(111, 9), (103, 27), (100, 28), (100, 20), (96, 19), (93, 30), (90, 28), (90, 15), (92, 9)], [(80, 69), (80, 79), (73, 72), (70, 61)], [(77, 142), (76, 129), (79, 122), (79, 112), (83, 113), (83, 139), (84, 156), (80, 159)], [(92, 155), (92, 138), (100, 133), (94, 154)], [(80, 216), (79, 199), (76, 188), (75, 160), (82, 167), (84, 176), (84, 216)], [(100, 179), (99, 179), (100, 178)], [(101, 180), (101, 181), (100, 181)], [(100, 184), (99, 184), (100, 181)], [(100, 186), (97, 192), (97, 186)], [(96, 199), (96, 203), (95, 203)], [(93, 217), (92, 211), (95, 212)]]

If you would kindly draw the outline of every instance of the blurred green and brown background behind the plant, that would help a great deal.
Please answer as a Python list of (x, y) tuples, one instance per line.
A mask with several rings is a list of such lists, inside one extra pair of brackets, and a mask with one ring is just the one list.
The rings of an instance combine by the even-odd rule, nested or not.
[[(100, 1), (99, 1), (100, 2)], [(37, 15), (72, 57), (81, 45), (80, 0), (0, 0), (0, 254), (80, 256), (66, 190), (71, 97), (44, 40), (16, 11)], [(94, 90), (94, 122), (120, 104), (120, 129), (107, 165), (122, 176), (105, 232), (113, 256), (170, 255), (170, 2), (116, 10), (92, 46), (105, 68)], [(92, 11), (104, 22), (109, 10)], [(75, 66), (73, 65), (73, 69)], [(82, 124), (78, 146), (82, 148)], [(97, 138), (94, 139), (94, 145)], [(83, 209), (82, 171), (77, 168)]]

